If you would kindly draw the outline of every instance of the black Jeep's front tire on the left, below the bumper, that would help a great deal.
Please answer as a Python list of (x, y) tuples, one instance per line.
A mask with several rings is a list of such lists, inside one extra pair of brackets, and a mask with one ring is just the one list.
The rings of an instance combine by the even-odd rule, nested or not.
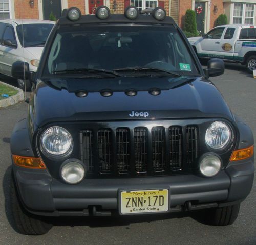
[(22, 206), (18, 197), (17, 188), (13, 174), (11, 175), (11, 211), (13, 215), (16, 231), (26, 235), (42, 235), (47, 233), (52, 224), (43, 220), (45, 217), (40, 217), (29, 213)]

